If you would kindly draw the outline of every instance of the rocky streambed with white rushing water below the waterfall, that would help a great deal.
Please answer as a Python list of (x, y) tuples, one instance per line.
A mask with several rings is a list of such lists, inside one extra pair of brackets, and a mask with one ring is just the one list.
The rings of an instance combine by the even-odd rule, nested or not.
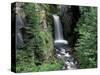
[(64, 61), (64, 66), (62, 67), (62, 70), (72, 70), (78, 68), (78, 63), (73, 55), (70, 53), (70, 49), (71, 48), (56, 49), (57, 58)]

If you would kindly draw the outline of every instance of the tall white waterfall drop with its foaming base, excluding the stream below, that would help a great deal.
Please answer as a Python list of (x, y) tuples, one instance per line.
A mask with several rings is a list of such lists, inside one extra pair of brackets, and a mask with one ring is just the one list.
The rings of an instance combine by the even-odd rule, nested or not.
[(63, 30), (59, 16), (53, 15), (53, 19), (54, 19), (54, 32), (55, 32), (55, 41), (54, 41), (55, 46), (60, 47), (62, 45), (68, 44), (68, 42), (64, 40), (63, 37)]

